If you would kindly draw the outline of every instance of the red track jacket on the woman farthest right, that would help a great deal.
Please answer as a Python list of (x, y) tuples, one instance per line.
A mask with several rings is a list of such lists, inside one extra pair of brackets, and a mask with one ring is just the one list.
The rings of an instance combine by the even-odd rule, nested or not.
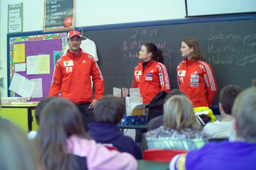
[(210, 107), (217, 93), (217, 84), (212, 67), (198, 60), (185, 58), (177, 67), (180, 90), (196, 107)]

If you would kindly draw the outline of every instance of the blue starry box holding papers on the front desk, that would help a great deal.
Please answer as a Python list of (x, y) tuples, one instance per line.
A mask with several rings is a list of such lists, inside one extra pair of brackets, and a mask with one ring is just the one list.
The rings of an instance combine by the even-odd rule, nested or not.
[(139, 116), (124, 115), (119, 125), (134, 125), (134, 124), (146, 124), (146, 123), (148, 123), (146, 115), (139, 115)]

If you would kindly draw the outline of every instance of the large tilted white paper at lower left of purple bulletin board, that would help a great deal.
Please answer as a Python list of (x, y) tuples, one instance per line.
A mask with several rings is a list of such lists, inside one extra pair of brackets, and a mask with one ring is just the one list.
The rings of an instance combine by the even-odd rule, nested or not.
[(14, 73), (9, 90), (14, 91), (22, 97), (28, 97), (28, 100), (30, 100), (34, 86), (35, 84), (26, 77)]

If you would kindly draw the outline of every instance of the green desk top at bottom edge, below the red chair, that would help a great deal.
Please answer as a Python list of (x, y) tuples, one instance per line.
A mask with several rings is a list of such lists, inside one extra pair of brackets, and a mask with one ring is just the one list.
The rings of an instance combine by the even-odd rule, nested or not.
[(138, 170), (168, 170), (170, 162), (137, 160)]

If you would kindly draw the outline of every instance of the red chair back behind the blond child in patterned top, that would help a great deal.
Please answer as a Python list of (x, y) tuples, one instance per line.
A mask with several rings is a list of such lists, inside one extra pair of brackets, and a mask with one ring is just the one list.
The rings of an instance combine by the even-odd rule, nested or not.
[(175, 155), (187, 152), (186, 150), (180, 149), (148, 149), (143, 152), (142, 159), (170, 162)]

